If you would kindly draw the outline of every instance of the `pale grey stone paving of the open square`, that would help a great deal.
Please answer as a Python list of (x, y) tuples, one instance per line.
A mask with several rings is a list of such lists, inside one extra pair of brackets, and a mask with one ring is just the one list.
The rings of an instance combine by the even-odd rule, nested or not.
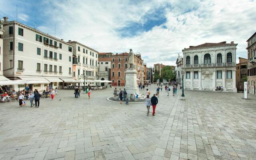
[[(155, 85), (149, 87), (153, 93)], [(74, 98), (60, 90), (40, 108), (0, 104), (0, 160), (254, 160), (256, 97), (160, 92), (156, 116), (145, 104), (109, 102), (113, 88)], [(141, 91), (144, 93), (145, 91)]]

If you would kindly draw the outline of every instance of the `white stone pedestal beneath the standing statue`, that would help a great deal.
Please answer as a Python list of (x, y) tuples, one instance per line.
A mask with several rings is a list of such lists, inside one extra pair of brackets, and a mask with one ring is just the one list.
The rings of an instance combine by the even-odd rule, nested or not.
[(140, 93), (137, 87), (137, 71), (134, 68), (128, 68), (125, 71), (125, 90), (128, 97), (130, 94)]

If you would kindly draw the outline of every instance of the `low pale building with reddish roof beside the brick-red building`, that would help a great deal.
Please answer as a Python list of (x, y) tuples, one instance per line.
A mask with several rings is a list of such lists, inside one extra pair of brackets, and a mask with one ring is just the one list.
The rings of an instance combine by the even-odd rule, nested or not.
[[(110, 80), (111, 72), (111, 56), (114, 54), (111, 52), (108, 53), (99, 53), (98, 54), (98, 79), (99, 80)], [(101, 86), (105, 86), (107, 83), (101, 83)]]

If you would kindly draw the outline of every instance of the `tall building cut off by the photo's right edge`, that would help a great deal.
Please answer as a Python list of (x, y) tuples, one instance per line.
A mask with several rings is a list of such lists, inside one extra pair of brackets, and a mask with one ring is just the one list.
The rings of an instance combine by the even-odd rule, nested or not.
[(256, 94), (256, 32), (246, 41), (248, 51), (248, 92)]

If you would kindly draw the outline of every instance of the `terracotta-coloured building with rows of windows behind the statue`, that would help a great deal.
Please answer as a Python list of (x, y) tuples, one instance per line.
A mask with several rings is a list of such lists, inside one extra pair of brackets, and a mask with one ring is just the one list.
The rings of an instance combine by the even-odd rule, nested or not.
[[(111, 59), (111, 72), (110, 80), (112, 81), (112, 86), (125, 86), (125, 71), (128, 68), (128, 53), (115, 54), (110, 56)], [(137, 78), (138, 83), (142, 82), (143, 78), (143, 60), (140, 54), (134, 55), (134, 64), (138, 72)]]

